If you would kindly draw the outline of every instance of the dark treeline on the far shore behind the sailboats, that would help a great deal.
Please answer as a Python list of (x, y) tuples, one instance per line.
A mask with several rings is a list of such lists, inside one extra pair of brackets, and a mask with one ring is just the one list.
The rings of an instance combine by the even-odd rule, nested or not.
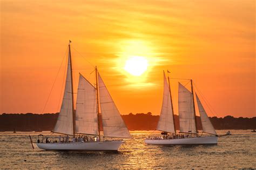
[[(7, 114), (0, 115), (0, 131), (51, 131), (56, 123), (58, 113), (45, 114)], [(159, 115), (137, 113), (122, 115), (129, 130), (155, 130)], [(234, 118), (227, 115), (224, 118), (210, 117), (216, 130), (252, 130), (256, 129), (256, 117)], [(174, 115), (176, 129), (179, 130), (179, 116)], [(197, 117), (198, 130), (201, 130), (201, 120)], [(102, 122), (100, 122), (102, 125)], [(102, 127), (101, 127), (102, 129)]]

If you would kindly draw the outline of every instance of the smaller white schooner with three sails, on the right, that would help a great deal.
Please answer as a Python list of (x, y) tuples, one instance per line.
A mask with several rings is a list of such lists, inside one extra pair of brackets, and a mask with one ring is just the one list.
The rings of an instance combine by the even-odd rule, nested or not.
[(194, 97), (193, 97), (193, 84), (191, 80), (191, 92), (186, 89), (183, 85), (179, 83), (179, 123), (180, 123), (180, 134), (177, 135), (174, 122), (173, 105), (170, 89), (170, 79), (169, 85), (167, 83), (164, 74), (164, 97), (163, 105), (161, 108), (161, 113), (158, 121), (157, 130), (167, 133), (172, 133), (171, 137), (149, 137), (145, 139), (146, 144), (155, 145), (199, 145), (199, 144), (217, 144), (218, 135), (211, 124), (207, 113), (204, 110), (197, 94), (197, 104), (200, 113), (201, 124), (203, 127), (203, 133), (209, 134), (206, 136), (198, 135), (197, 131), (197, 120), (196, 111), (194, 107)]

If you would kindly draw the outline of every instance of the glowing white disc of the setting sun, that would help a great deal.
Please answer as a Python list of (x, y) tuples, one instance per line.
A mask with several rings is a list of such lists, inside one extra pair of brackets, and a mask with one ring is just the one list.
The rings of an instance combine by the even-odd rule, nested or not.
[(132, 56), (126, 60), (124, 70), (133, 76), (141, 76), (147, 70), (148, 62), (145, 57)]

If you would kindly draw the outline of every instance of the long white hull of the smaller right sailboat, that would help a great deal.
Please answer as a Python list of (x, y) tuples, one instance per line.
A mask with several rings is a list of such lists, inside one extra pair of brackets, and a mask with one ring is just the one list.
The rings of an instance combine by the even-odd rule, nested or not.
[(217, 144), (218, 137), (196, 137), (196, 138), (181, 138), (181, 139), (145, 139), (146, 144), (153, 145), (202, 145), (202, 144)]

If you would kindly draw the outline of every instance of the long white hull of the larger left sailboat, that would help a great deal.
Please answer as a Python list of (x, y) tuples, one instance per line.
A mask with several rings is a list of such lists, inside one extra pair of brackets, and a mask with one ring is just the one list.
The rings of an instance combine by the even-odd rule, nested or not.
[(118, 151), (124, 141), (70, 142), (70, 143), (36, 143), (44, 150), (62, 151)]

